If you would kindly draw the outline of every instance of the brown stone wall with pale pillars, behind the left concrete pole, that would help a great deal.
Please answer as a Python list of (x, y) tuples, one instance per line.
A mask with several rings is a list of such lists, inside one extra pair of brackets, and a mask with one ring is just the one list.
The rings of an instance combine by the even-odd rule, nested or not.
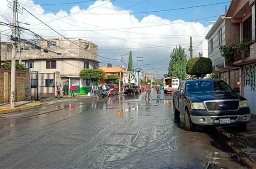
[[(16, 101), (26, 100), (26, 74), (27, 71), (16, 71)], [(0, 103), (10, 102), (10, 96), (11, 70), (0, 69)]]

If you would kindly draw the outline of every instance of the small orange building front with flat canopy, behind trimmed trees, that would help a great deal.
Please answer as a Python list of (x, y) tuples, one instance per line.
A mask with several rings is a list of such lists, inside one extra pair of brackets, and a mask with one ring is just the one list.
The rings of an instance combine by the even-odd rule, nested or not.
[(105, 78), (99, 81), (99, 84), (110, 83), (106, 78), (108, 75), (117, 75), (120, 78), (121, 73), (121, 84), (123, 84), (124, 68), (121, 67), (99, 67), (100, 70), (105, 72)]

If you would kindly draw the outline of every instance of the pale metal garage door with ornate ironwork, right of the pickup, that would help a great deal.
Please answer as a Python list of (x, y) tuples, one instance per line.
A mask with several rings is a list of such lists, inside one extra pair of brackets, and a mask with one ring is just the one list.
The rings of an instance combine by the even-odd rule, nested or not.
[(244, 97), (248, 100), (251, 113), (256, 115), (256, 65), (244, 67)]

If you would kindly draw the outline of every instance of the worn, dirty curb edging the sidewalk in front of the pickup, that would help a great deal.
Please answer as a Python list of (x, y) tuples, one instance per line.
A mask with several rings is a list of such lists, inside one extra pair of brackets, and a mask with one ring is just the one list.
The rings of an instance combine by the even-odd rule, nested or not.
[[(227, 133), (226, 131), (224, 131), (221, 128), (218, 128), (217, 131), (219, 131), (221, 134), (225, 135), (226, 137), (228, 137), (229, 139), (231, 139), (232, 137), (234, 137), (234, 134), (232, 133)], [(254, 161), (251, 160), (251, 157), (244, 153), (241, 149), (237, 148), (234, 145), (234, 141), (226, 141), (227, 145), (229, 145), (229, 147), (234, 151), (234, 153), (237, 154), (237, 156), (239, 157), (239, 161), (244, 164), (246, 167), (248, 167), (249, 169), (256, 169), (256, 163)]]

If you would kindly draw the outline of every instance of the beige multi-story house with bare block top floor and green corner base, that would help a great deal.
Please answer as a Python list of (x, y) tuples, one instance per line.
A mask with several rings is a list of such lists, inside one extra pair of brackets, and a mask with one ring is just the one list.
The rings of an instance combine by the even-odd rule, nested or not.
[[(75, 94), (87, 94), (92, 83), (80, 79), (79, 72), (84, 68), (98, 69), (98, 46), (82, 39), (46, 40), (39, 40), (41, 50), (21, 44), (21, 54), (17, 52), (16, 59), (18, 60), (21, 56), (22, 63), (31, 71), (60, 72), (61, 89), (64, 94), (69, 94), (70, 86), (75, 86)], [(11, 49), (11, 43), (1, 43), (2, 61), (11, 61)], [(44, 49), (48, 52), (44, 52)], [(55, 86), (53, 78), (43, 81), (42, 85), (45, 87)], [(33, 79), (31, 79), (31, 87), (33, 87), (33, 83)]]

